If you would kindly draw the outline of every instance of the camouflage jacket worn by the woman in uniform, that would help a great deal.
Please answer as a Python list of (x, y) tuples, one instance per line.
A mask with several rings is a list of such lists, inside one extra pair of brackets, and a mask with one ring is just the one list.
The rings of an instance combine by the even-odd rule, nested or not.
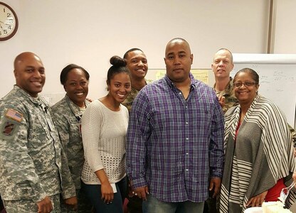
[[(85, 106), (88, 107), (85, 100)], [(81, 187), (81, 171), (83, 170), (84, 151), (81, 137), (81, 117), (83, 112), (65, 95), (58, 103), (53, 105), (53, 117), (63, 143), (68, 165), (76, 190)]]

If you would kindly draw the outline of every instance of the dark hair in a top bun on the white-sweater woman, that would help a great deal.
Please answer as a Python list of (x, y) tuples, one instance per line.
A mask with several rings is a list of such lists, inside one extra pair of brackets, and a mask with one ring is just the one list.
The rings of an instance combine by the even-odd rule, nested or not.
[(107, 84), (110, 84), (112, 77), (118, 73), (125, 72), (130, 77), (129, 69), (127, 68), (127, 61), (115, 55), (110, 58), (112, 65), (107, 72)]

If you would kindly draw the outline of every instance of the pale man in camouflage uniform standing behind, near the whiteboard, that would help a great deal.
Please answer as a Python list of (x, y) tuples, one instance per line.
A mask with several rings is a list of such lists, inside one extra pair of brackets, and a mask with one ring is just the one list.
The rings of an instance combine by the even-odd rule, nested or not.
[[(213, 89), (215, 90), (219, 103), (223, 109), (223, 113), (238, 104), (238, 99), (233, 93), (233, 80), (230, 76), (231, 70), (233, 70), (233, 56), (231, 51), (226, 48), (218, 50), (211, 65), (213, 74), (215, 75), (215, 84)], [(213, 189), (210, 189), (210, 196), (206, 200), (204, 213), (216, 213), (216, 197), (212, 197)]]

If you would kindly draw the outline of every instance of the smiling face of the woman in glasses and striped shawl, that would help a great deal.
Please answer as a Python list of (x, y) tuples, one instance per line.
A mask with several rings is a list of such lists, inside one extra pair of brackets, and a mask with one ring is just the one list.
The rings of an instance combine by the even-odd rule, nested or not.
[[(234, 94), (240, 105), (245, 104), (250, 106), (257, 95), (259, 85), (251, 84), (250, 86), (246, 86), (245, 83), (247, 82), (256, 83), (250, 72), (239, 72), (233, 79)], [(241, 84), (240, 87), (236, 87), (238, 83)]]

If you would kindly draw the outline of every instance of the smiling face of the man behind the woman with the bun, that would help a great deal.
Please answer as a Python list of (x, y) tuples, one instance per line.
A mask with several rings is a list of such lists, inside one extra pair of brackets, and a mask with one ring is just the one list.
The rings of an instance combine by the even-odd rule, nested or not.
[(134, 80), (142, 80), (148, 70), (146, 55), (140, 50), (134, 50), (127, 54), (127, 67)]

